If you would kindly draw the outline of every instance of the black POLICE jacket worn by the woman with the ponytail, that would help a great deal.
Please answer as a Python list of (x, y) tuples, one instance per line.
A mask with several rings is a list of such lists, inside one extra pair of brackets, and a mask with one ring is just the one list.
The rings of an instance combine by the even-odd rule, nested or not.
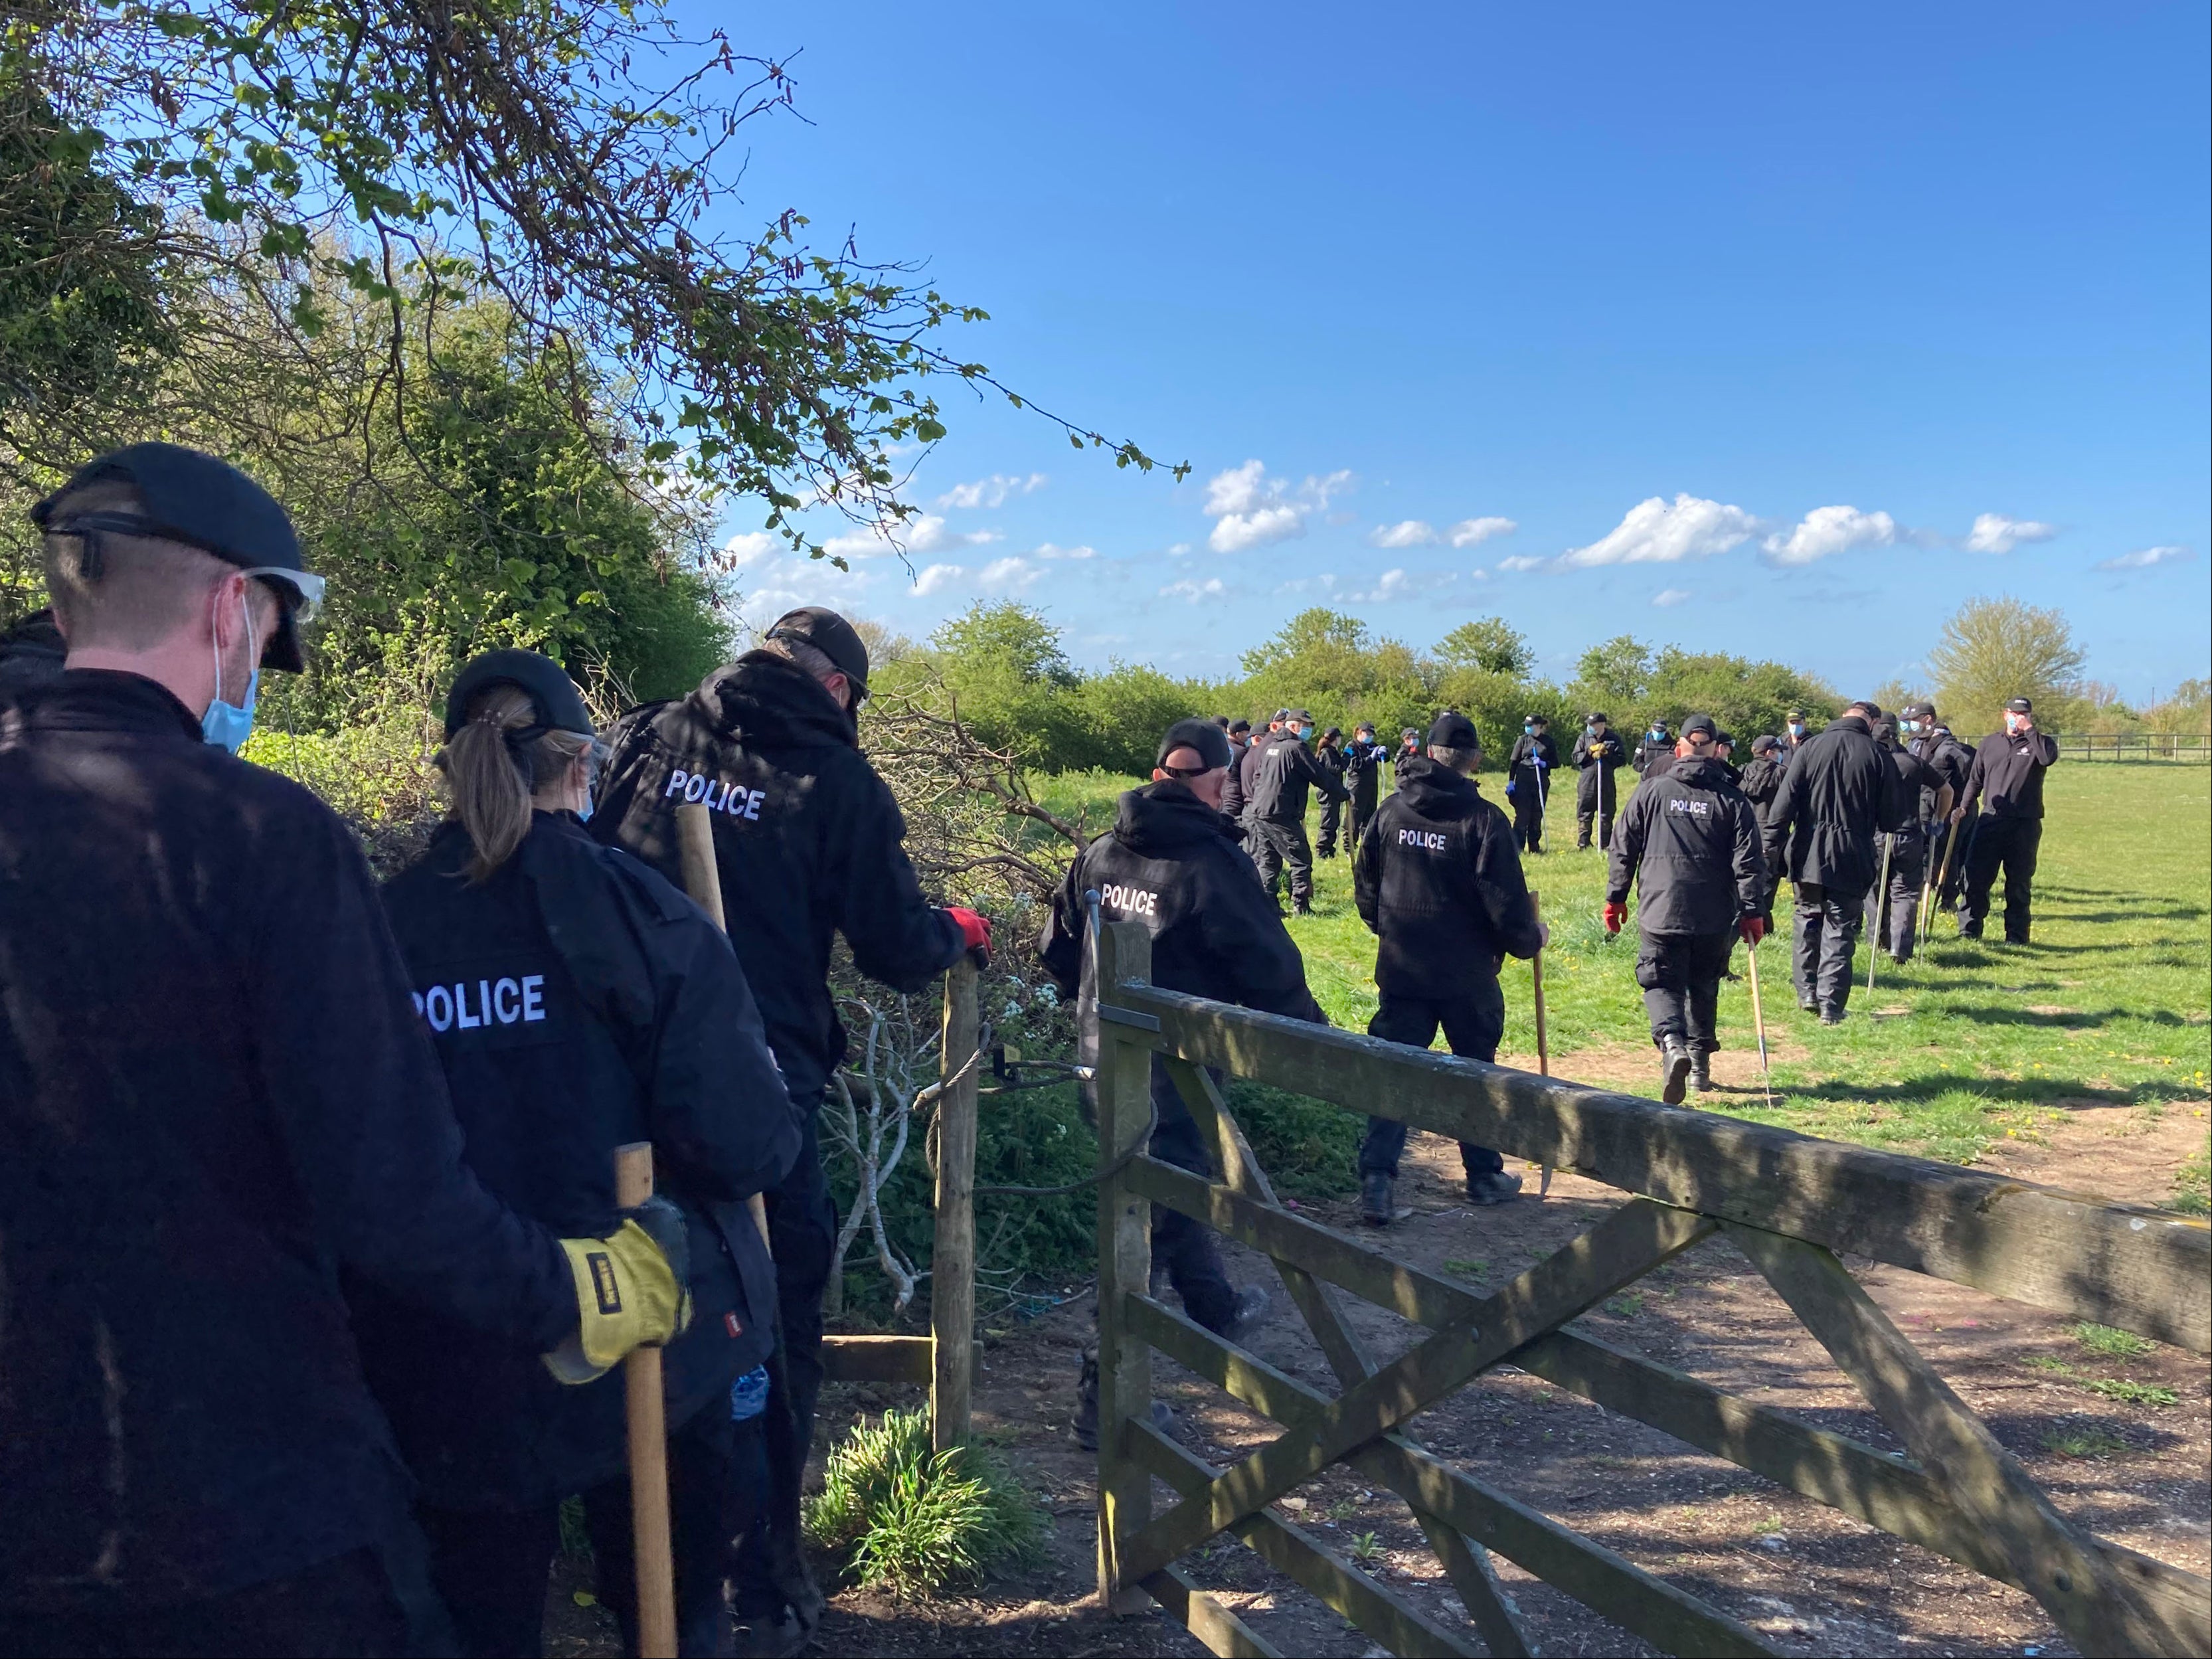
[[(469, 1168), (562, 1237), (615, 1221), (617, 1146), (653, 1144), (690, 1221), (692, 1325), (668, 1347), (668, 1425), (768, 1358), (776, 1272), (745, 1212), (799, 1155), (801, 1110), (730, 942), (684, 894), (568, 814), (540, 812), (469, 883), (445, 825), (385, 885)], [(622, 1378), (562, 1387), (535, 1354), (354, 1290), (361, 1358), (425, 1495), (529, 1509), (622, 1473)]]

